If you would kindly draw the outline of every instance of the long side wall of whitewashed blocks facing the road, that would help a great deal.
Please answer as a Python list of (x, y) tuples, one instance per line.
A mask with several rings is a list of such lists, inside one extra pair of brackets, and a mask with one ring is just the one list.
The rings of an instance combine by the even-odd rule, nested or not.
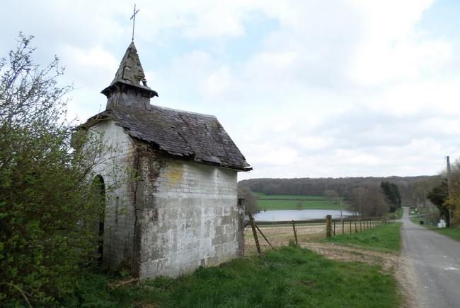
[(153, 152), (139, 159), (139, 278), (176, 277), (241, 256), (237, 172)]

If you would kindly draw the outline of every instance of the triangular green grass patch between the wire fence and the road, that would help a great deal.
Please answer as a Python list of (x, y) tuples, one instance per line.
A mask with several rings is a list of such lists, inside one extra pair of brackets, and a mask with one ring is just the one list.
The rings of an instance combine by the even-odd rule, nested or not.
[(336, 235), (335, 237), (319, 239), (318, 242), (329, 242), (344, 246), (398, 254), (402, 247), (399, 231), (401, 225), (402, 223), (389, 223), (365, 232), (352, 233), (351, 235)]

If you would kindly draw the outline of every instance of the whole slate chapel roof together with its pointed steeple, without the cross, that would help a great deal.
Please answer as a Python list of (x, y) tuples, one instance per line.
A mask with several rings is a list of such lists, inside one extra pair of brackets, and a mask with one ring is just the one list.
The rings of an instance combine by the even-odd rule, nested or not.
[(102, 93), (108, 97), (105, 111), (88, 119), (84, 126), (112, 119), (131, 138), (153, 149), (210, 165), (252, 170), (216, 117), (150, 104), (150, 98), (158, 94), (146, 85), (134, 42)]

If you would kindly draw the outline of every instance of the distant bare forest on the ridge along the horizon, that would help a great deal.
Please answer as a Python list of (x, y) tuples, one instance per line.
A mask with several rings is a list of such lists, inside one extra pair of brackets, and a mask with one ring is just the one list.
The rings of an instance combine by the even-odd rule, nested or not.
[(251, 191), (267, 195), (323, 196), (326, 190), (334, 190), (339, 196), (348, 198), (356, 188), (369, 188), (381, 182), (391, 182), (398, 186), (403, 206), (423, 205), (427, 192), (439, 184), (440, 177), (340, 177), (334, 178), (300, 178), (300, 179), (244, 179), (238, 184)]

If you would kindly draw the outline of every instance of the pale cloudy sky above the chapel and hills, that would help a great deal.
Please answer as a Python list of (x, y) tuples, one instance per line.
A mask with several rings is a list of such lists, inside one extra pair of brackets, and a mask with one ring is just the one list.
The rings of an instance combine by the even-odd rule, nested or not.
[(0, 57), (18, 32), (74, 83), (69, 117), (134, 43), (154, 105), (214, 114), (258, 177), (438, 174), (460, 156), (460, 1), (2, 1)]

